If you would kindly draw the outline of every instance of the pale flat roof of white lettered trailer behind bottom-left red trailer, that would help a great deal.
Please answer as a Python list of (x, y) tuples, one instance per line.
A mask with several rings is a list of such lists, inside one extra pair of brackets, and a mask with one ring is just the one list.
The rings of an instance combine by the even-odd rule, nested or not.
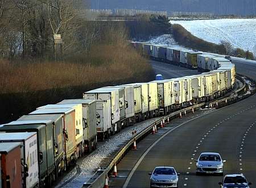
[(0, 132), (0, 143), (3, 140), (27, 140), (36, 132)]

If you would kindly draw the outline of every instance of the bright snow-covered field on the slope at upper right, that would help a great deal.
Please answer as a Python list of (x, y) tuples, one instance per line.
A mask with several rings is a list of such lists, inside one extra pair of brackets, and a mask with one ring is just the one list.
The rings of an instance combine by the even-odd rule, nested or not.
[(256, 54), (256, 19), (171, 20), (170, 23), (180, 24), (203, 40), (216, 44), (229, 41), (234, 48)]

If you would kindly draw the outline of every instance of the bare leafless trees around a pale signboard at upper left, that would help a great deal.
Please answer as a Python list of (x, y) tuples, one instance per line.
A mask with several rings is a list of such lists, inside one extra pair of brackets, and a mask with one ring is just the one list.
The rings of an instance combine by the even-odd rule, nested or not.
[[(82, 0), (0, 0), (0, 56), (56, 58), (80, 53), (97, 36)], [(89, 31), (90, 30), (90, 31)]]

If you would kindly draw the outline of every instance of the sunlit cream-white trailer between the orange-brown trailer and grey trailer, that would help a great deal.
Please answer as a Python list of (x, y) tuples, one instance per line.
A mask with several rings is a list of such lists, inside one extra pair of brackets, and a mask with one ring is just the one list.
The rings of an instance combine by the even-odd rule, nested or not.
[(57, 108), (72, 108), (75, 109), (76, 120), (76, 144), (81, 145), (84, 143), (84, 130), (82, 127), (82, 105), (46, 105), (36, 108), (39, 109), (57, 109)]

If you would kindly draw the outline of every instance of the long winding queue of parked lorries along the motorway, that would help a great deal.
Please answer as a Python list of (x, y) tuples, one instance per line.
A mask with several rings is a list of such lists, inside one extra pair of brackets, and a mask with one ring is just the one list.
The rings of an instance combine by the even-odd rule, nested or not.
[(38, 107), (14, 122), (2, 124), (2, 187), (50, 186), (77, 158), (96, 149), (98, 140), (135, 122), (210, 101), (234, 87), (236, 72), (229, 60), (142, 43), (133, 46), (153, 59), (198, 67), (205, 73), (101, 87), (86, 91), (83, 99)]

